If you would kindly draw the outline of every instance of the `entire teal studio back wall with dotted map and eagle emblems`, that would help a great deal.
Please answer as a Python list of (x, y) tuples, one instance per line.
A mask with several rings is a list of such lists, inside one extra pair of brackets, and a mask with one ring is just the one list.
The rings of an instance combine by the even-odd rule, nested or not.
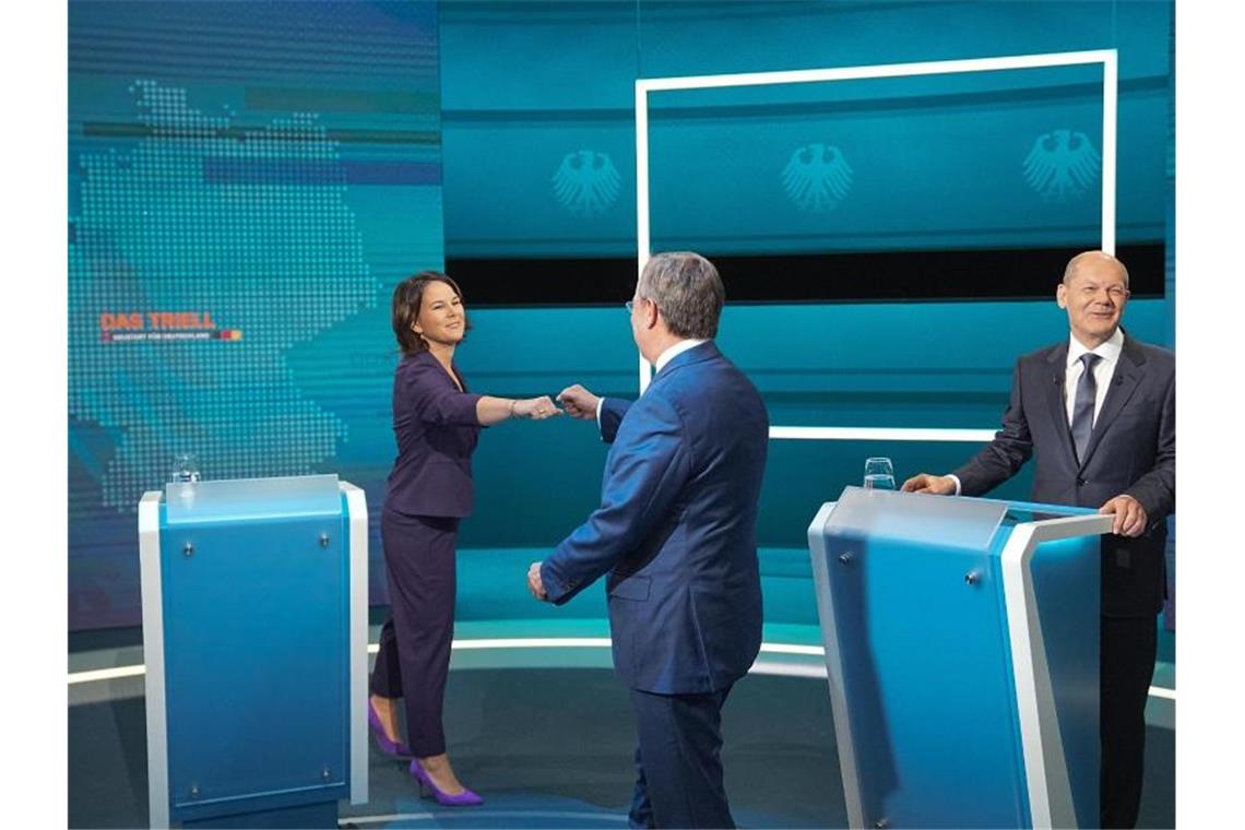
[[(387, 312), (420, 269), (463, 285), (473, 389), (634, 397), (640, 77), (1118, 50), (1125, 324), (1173, 345), (1172, 20), (1168, 1), (72, 0), (70, 628), (138, 623), (134, 508), (179, 452), (204, 478), (362, 487), (386, 601)], [(1016, 356), (1066, 336), (1059, 263), (1101, 238), (1099, 68), (650, 105), (654, 249), (722, 264), (718, 340), (773, 424), (992, 429)], [(976, 448), (772, 441), (767, 621), (815, 622), (806, 528), (867, 457), (905, 477)], [(524, 575), (596, 506), (605, 449), (569, 418), (484, 432), (459, 620), (601, 627), (600, 585), (553, 609)]]

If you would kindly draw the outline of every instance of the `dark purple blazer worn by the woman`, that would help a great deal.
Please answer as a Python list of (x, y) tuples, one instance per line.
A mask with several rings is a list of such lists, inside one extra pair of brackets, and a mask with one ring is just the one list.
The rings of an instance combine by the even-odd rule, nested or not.
[[(458, 382), (467, 388), (458, 367)], [(476, 402), (459, 392), (430, 352), (406, 355), (393, 375), (397, 459), (385, 485), (385, 508), (406, 515), (471, 515), (471, 454), (479, 439)]]

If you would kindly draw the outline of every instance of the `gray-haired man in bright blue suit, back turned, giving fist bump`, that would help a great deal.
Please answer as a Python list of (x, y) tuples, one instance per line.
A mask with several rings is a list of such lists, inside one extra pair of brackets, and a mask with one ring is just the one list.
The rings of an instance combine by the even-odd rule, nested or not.
[(721, 711), (761, 648), (757, 497), (769, 422), (756, 387), (713, 345), (726, 292), (690, 253), (649, 260), (627, 304), (656, 376), (639, 401), (558, 396), (611, 443), (601, 506), (533, 562), (561, 605), (609, 574), (614, 667), (639, 745), (631, 826), (733, 828)]

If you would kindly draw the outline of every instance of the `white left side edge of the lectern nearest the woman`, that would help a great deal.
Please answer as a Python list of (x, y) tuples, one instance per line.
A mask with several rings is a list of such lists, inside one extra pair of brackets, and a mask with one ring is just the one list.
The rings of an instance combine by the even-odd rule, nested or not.
[(143, 606), (147, 709), (147, 809), (152, 828), (168, 826), (168, 722), (164, 712), (164, 613), (161, 592), (158, 490), (138, 501), (138, 565)]

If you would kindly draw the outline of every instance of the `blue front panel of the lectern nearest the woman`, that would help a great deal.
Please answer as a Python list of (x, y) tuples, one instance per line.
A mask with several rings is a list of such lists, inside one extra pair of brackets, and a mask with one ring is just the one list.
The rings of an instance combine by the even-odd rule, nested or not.
[(174, 819), (345, 794), (345, 540), (340, 497), (331, 513), (164, 528)]

